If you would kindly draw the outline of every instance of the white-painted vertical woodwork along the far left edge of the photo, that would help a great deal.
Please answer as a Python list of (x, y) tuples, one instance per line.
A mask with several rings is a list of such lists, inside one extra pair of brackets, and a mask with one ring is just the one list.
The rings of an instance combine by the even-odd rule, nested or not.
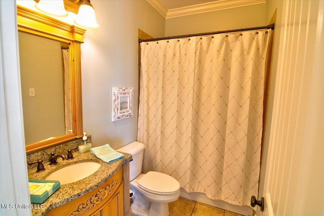
[(31, 215), (20, 94), (17, 6), (0, 0), (0, 215)]

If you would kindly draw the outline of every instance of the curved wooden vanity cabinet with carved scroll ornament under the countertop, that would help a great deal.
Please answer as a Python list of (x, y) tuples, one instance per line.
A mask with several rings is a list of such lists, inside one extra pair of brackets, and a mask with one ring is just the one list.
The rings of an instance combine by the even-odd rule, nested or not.
[(47, 215), (124, 215), (124, 181), (121, 166), (115, 174), (91, 192), (50, 210)]

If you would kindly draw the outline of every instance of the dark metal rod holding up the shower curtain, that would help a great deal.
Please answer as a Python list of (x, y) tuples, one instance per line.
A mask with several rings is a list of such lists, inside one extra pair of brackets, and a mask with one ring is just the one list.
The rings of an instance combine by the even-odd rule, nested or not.
[(179, 36), (171, 36), (171, 37), (157, 37), (151, 39), (138, 39), (139, 42), (147, 42), (147, 41), (156, 41), (156, 40), (166, 40), (166, 39), (174, 39), (174, 38), (182, 38), (182, 37), (192, 37), (192, 36), (203, 36), (203, 35), (211, 35), (211, 34), (220, 34), (220, 33), (228, 33), (228, 32), (237, 32), (237, 31), (250, 31), (250, 30), (258, 30), (258, 29), (274, 29), (274, 23), (266, 26), (252, 27), (252, 28), (241, 28), (241, 29), (232, 29), (226, 31), (213, 31), (206, 33), (198, 33), (198, 34), (186, 34)]

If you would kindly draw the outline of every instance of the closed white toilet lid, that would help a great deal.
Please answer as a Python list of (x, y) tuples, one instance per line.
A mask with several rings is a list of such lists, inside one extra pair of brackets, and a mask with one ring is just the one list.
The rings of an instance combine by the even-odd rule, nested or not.
[(180, 189), (177, 180), (161, 172), (149, 171), (139, 181), (138, 186), (153, 194), (174, 194)]

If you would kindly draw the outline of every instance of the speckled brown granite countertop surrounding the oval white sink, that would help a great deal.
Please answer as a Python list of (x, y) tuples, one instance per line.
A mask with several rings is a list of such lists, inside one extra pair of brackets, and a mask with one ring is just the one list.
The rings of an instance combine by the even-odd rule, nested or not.
[(49, 163), (44, 163), (46, 170), (43, 172), (36, 172), (36, 168), (28, 170), (29, 180), (45, 180), (45, 178), (48, 175), (52, 174), (54, 171), (68, 165), (87, 161), (97, 162), (101, 164), (99, 169), (89, 177), (73, 183), (61, 185), (61, 187), (56, 192), (54, 192), (47, 200), (42, 203), (42, 206), (41, 204), (35, 204), (36, 206), (38, 206), (38, 208), (32, 208), (32, 215), (46, 215), (46, 213), (51, 209), (68, 203), (80, 196), (83, 196), (84, 194), (87, 194), (88, 192), (102, 185), (105, 181), (107, 181), (115, 174), (115, 172), (121, 165), (124, 164), (125, 161), (132, 160), (131, 154), (124, 152), (121, 153), (124, 154), (124, 158), (116, 160), (112, 163), (106, 163), (96, 156), (92, 155), (91, 152), (86, 152), (83, 154), (80, 154), (79, 152), (73, 152), (74, 159), (72, 160), (62, 160), (62, 158), (59, 157), (57, 159), (58, 164), (56, 165), (49, 165)]

